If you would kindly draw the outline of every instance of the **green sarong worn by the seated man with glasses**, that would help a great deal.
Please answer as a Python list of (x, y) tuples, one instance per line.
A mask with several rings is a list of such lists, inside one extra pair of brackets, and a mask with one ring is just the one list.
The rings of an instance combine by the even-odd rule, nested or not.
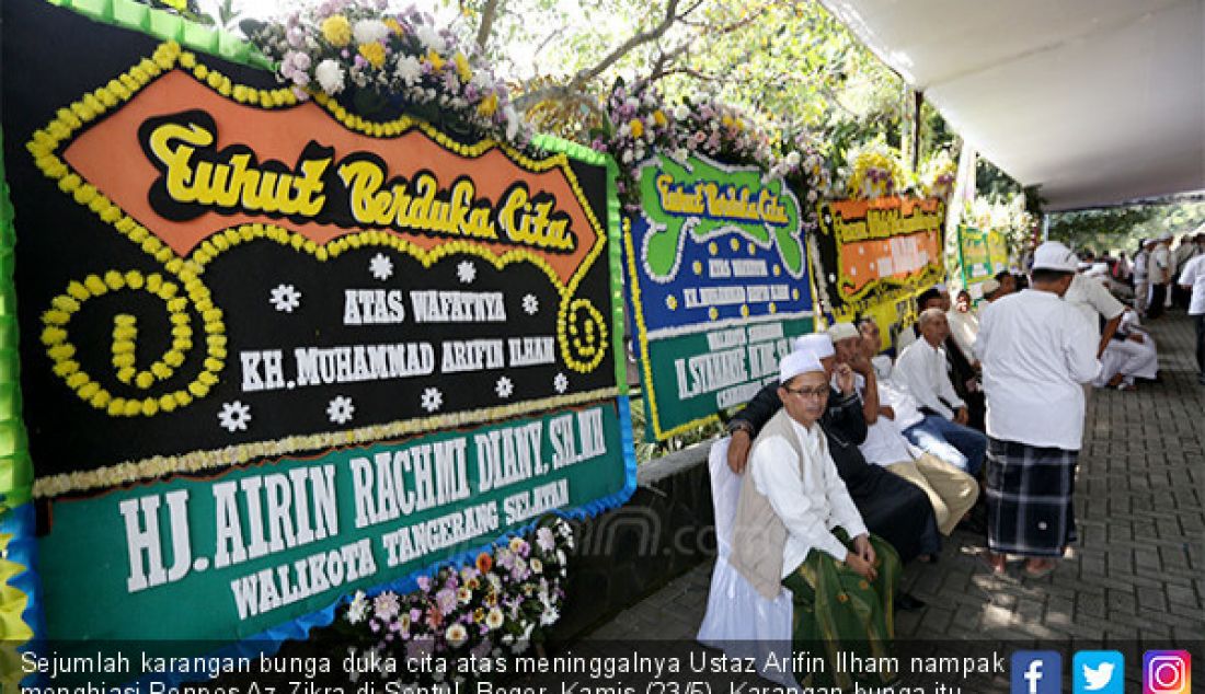
[[(853, 552), (850, 535), (841, 528), (833, 534)], [(828, 552), (812, 549), (794, 571), (782, 580), (790, 589), (794, 612), (792, 647), (795, 653), (817, 654), (823, 649), (823, 672), (800, 675), (801, 687), (839, 686), (852, 690), (854, 682), (886, 684), (897, 674), (839, 672), (837, 653), (858, 658), (888, 657), (895, 636), (893, 601), (900, 580), (900, 558), (895, 548), (877, 535), (870, 535), (878, 577), (866, 581)]]

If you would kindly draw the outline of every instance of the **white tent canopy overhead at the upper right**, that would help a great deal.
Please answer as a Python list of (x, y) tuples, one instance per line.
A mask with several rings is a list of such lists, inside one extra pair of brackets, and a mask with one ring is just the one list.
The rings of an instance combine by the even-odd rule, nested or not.
[(1051, 210), (1205, 189), (1205, 0), (823, 0)]

